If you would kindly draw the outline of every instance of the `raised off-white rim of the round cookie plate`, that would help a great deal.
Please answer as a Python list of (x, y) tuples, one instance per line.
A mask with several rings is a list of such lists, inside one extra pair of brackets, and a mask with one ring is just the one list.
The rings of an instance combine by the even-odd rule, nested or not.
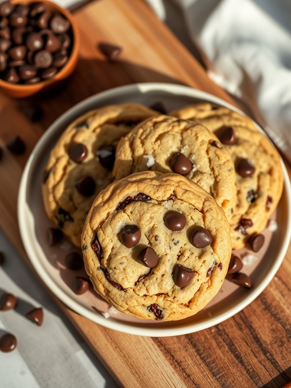
[[(66, 306), (68, 306), (69, 308), (71, 308), (73, 311), (80, 314), (81, 316), (84, 316), (90, 319), (91, 321), (98, 323), (109, 329), (113, 329), (127, 334), (151, 336), (151, 337), (165, 337), (165, 336), (189, 334), (189, 333), (197, 332), (197, 331), (215, 326), (227, 320), (228, 318), (234, 316), (238, 312), (240, 312), (244, 307), (252, 303), (264, 291), (264, 289), (268, 286), (268, 284), (275, 276), (277, 270), (279, 269), (284, 259), (284, 256), (286, 254), (289, 241), (291, 238), (291, 185), (290, 185), (290, 181), (288, 178), (285, 165), (281, 158), (280, 158), (280, 161), (281, 161), (281, 166), (283, 170), (284, 190), (286, 191), (286, 200), (288, 205), (288, 217), (287, 217), (287, 227), (286, 227), (284, 242), (279, 250), (276, 260), (272, 264), (267, 276), (265, 276), (265, 278), (261, 281), (260, 285), (251, 292), (248, 290), (248, 294), (246, 295), (246, 297), (242, 301), (240, 301), (236, 306), (233, 306), (226, 312), (224, 311), (223, 313), (220, 313), (217, 317), (209, 318), (206, 321), (203, 321), (200, 323), (194, 323), (194, 324), (188, 323), (186, 325), (183, 325), (182, 323), (180, 324), (180, 326), (176, 328), (167, 328), (167, 327), (158, 328), (156, 326), (149, 327), (149, 328), (136, 327), (133, 322), (126, 323), (126, 321), (117, 321), (114, 319), (114, 316), (108, 319), (99, 314), (89, 311), (89, 309), (87, 309), (86, 307), (82, 306), (81, 304), (73, 300), (48, 275), (46, 270), (41, 265), (40, 260), (37, 259), (37, 255), (35, 254), (32, 248), (32, 244), (30, 244), (30, 238), (32, 236), (29, 234), (29, 228), (26, 227), (27, 225), (25, 220), (26, 220), (27, 189), (30, 187), (28, 184), (30, 182), (29, 178), (30, 178), (31, 168), (33, 167), (34, 160), (39, 154), (39, 150), (43, 148), (43, 146), (47, 143), (47, 141), (51, 137), (54, 136), (55, 133), (58, 132), (59, 127), (62, 125), (62, 122), (67, 121), (70, 118), (70, 116), (74, 114), (74, 111), (85, 108), (86, 105), (88, 105), (89, 103), (94, 103), (94, 102), (97, 103), (98, 101), (102, 101), (102, 99), (104, 98), (117, 97), (118, 95), (124, 95), (124, 93), (129, 94), (134, 91), (141, 94), (146, 93), (148, 91), (170, 92), (173, 95), (180, 94), (183, 96), (192, 97), (196, 99), (209, 100), (210, 102), (217, 103), (219, 105), (225, 106), (227, 108), (230, 108), (232, 110), (239, 112), (240, 114), (245, 115), (244, 112), (237, 109), (235, 106), (231, 105), (227, 101), (224, 101), (220, 97), (201, 91), (199, 89), (195, 89), (195, 88), (191, 88), (183, 85), (170, 84), (170, 83), (137, 83), (132, 85), (126, 85), (126, 86), (105, 90), (103, 92), (90, 96), (85, 100), (80, 101), (79, 103), (73, 105), (70, 109), (66, 110), (62, 115), (60, 115), (60, 117), (57, 120), (55, 120), (49, 126), (49, 128), (46, 130), (43, 136), (40, 137), (40, 139), (37, 141), (36, 145), (34, 146), (33, 150), (31, 151), (31, 154), (23, 170), (23, 174), (19, 185), (19, 191), (18, 191), (17, 217), (18, 217), (20, 236), (21, 236), (22, 243), (24, 245), (25, 252), (30, 260), (30, 263), (32, 264), (34, 270), (36, 271), (40, 279), (45, 283), (45, 285), (49, 288), (49, 290), (59, 300), (61, 300), (64, 304), (66, 304)], [(257, 124), (256, 126), (262, 133), (264, 133), (264, 131), (261, 129), (260, 126), (258, 126)], [(183, 321), (177, 321), (177, 322), (183, 322)]]

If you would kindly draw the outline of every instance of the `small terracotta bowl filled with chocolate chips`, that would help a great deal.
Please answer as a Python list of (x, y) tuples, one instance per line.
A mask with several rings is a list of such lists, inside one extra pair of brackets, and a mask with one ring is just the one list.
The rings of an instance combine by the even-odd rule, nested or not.
[(28, 97), (74, 70), (79, 36), (72, 15), (50, 1), (0, 4), (0, 90)]

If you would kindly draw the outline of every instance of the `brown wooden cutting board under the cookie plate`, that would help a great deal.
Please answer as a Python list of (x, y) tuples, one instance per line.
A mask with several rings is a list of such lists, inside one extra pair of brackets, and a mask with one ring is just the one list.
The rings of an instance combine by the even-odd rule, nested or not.
[[(61, 113), (95, 93), (136, 82), (185, 84), (231, 102), (142, 0), (95, 1), (74, 16), (81, 37), (78, 66), (62, 89), (37, 98), (43, 119), (31, 124), (20, 101), (0, 95), (0, 145), (5, 148), (17, 134), (27, 145), (24, 156), (5, 151), (0, 163), (0, 226), (26, 261), (16, 216), (18, 185), (30, 151)], [(122, 46), (120, 60), (108, 63), (99, 42)], [(106, 329), (55, 300), (121, 386), (271, 388), (291, 380), (290, 279), (289, 247), (274, 280), (242, 312), (213, 328), (169, 338)]]

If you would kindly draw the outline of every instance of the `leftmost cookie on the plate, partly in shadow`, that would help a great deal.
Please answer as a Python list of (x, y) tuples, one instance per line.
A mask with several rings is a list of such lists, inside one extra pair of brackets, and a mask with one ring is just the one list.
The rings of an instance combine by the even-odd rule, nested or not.
[(45, 209), (75, 246), (94, 198), (112, 181), (118, 140), (155, 113), (134, 103), (92, 110), (71, 123), (52, 149), (43, 175)]

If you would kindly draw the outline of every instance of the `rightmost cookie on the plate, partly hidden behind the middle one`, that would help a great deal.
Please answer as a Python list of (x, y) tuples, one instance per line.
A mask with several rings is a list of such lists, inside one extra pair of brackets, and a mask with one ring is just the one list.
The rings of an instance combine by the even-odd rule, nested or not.
[(229, 151), (236, 170), (237, 202), (230, 220), (232, 247), (241, 248), (262, 231), (282, 193), (283, 173), (274, 146), (251, 119), (210, 103), (171, 114), (213, 131)]

